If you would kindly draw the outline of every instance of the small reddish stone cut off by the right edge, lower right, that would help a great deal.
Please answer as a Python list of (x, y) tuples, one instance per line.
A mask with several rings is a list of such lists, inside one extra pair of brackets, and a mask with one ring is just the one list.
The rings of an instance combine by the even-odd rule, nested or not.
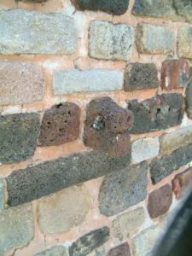
[(182, 197), (183, 192), (189, 189), (189, 186), (192, 186), (192, 167), (177, 174), (172, 180), (172, 190), (177, 199)]

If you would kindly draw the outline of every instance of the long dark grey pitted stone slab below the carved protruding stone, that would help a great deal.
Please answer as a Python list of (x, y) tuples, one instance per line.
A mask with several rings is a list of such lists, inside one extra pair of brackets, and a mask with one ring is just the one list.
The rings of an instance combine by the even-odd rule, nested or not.
[(91, 151), (17, 170), (7, 177), (8, 203), (16, 206), (113, 171), (119, 172), (129, 162), (129, 155), (111, 157)]

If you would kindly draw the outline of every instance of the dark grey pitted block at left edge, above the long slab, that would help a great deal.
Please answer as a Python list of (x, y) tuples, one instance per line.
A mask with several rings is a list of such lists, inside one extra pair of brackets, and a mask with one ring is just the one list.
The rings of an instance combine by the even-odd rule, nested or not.
[(0, 162), (11, 164), (31, 157), (39, 130), (38, 113), (0, 115)]

